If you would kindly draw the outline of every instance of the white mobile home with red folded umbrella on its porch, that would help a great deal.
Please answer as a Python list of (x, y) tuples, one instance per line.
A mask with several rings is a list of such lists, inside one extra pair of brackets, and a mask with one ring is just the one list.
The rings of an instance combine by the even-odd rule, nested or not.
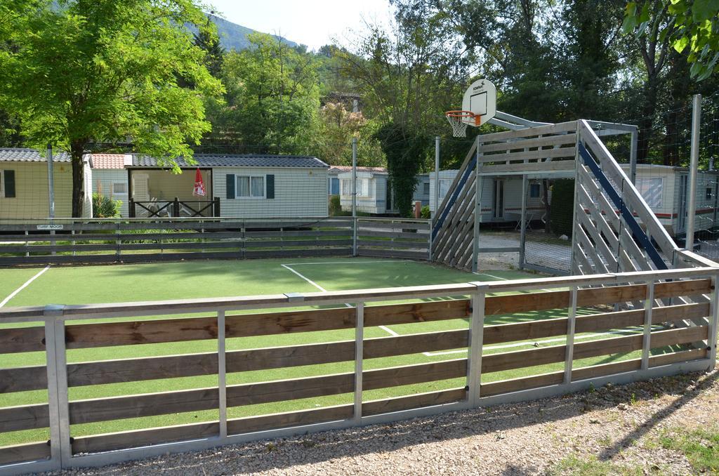
[[(132, 203), (149, 202), (152, 206), (177, 198), (181, 205), (186, 204), (180, 215), (189, 216), (198, 209), (206, 209), (203, 214), (217, 215), (219, 211), (219, 216), (236, 218), (327, 216), (329, 165), (317, 157), (216, 154), (193, 157), (194, 164), (180, 157), (182, 173), (176, 174), (155, 157), (134, 155), (132, 165), (127, 166)], [(205, 187), (204, 197), (193, 195), (198, 169)], [(160, 208), (155, 205), (155, 209)]]

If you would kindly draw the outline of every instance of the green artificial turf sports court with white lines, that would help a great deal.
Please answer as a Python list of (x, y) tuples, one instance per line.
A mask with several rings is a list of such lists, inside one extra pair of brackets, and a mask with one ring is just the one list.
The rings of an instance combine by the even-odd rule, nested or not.
[[(537, 277), (538, 275), (536, 274), (516, 270), (491, 270), (480, 273), (468, 273), (427, 262), (377, 258), (211, 260), (202, 262), (144, 263), (137, 265), (56, 266), (3, 269), (0, 270), (0, 292), (3, 296), (1, 302), (4, 306), (42, 306), (53, 303), (117, 303), (186, 298), (219, 298), (273, 293), (310, 293), (318, 290), (352, 290)], [(457, 298), (460, 297), (462, 296), (457, 296)], [(393, 301), (393, 303), (397, 302), (398, 301)], [(368, 305), (373, 304), (377, 303)], [(347, 303), (345, 306), (352, 306), (352, 303)], [(579, 312), (590, 311), (588, 309), (580, 309)], [(190, 315), (179, 317), (185, 316), (192, 317)], [(177, 317), (178, 315), (172, 315), (140, 319), (169, 319)], [(512, 313), (511, 315), (505, 316), (487, 316), (485, 325), (508, 324), (512, 322), (561, 317), (567, 317), (566, 308), (550, 311)], [(70, 321), (68, 325), (80, 323), (81, 321)], [(12, 325), (20, 326), (21, 324)], [(10, 326), (10, 324), (7, 326)], [(468, 319), (450, 319), (419, 324), (367, 327), (365, 328), (365, 339), (452, 331), (467, 329), (467, 326)], [(577, 339), (577, 342), (582, 342), (585, 340), (603, 339), (636, 333), (641, 333), (641, 328), (624, 328), (600, 333), (577, 334), (575, 339)], [(227, 350), (230, 351), (349, 341), (352, 339), (354, 339), (354, 329), (342, 329), (336, 331), (301, 332), (298, 334), (266, 337), (226, 339), (226, 347)], [(562, 346), (564, 342), (564, 337), (558, 337), (540, 339), (538, 341), (510, 342), (494, 346), (487, 345), (484, 347), (484, 353), (516, 352), (536, 347)], [(216, 346), (217, 342), (214, 340), (98, 347), (92, 349), (69, 349), (68, 363), (216, 352)], [(661, 349), (654, 349), (653, 352), (661, 352)], [(639, 353), (641, 354), (641, 352)], [(612, 356), (577, 360), (574, 365), (577, 367), (582, 365), (595, 365), (615, 360), (635, 358), (637, 354), (638, 352), (629, 352), (626, 354), (613, 354)], [(422, 352), (395, 357), (367, 359), (365, 360), (365, 368), (372, 370), (426, 362), (465, 359), (466, 357), (467, 349)], [(43, 365), (44, 363), (44, 352), (26, 352), (4, 356), (4, 362), (1, 367), (24, 367)], [(482, 381), (505, 380), (522, 377), (523, 375), (553, 372), (562, 370), (563, 366), (563, 363), (558, 363), (508, 370), (505, 372), (494, 372), (489, 375), (483, 375)], [(351, 370), (352, 362), (339, 362), (273, 370), (236, 372), (227, 375), (227, 383), (230, 385), (267, 382), (313, 375), (331, 375), (339, 372), (349, 372)], [(217, 385), (216, 375), (88, 385), (71, 388), (70, 401), (88, 398), (110, 398), (115, 395), (209, 388), (213, 385)], [(365, 392), (363, 392), (363, 398), (367, 400), (389, 398), (398, 395), (411, 395), (413, 393), (457, 388), (457, 386), (463, 385), (463, 378), (438, 380), (436, 382), (415, 385), (400, 385), (392, 388), (383, 388), (381, 390), (365, 390)], [(271, 404), (265, 403), (230, 408), (228, 416), (237, 418), (265, 413), (296, 411), (306, 408), (346, 404), (351, 401), (351, 393), (305, 398)], [(45, 390), (6, 393), (0, 397), (0, 407), (45, 402), (47, 402), (47, 392)], [(102, 423), (77, 424), (73, 425), (72, 429), (75, 435), (104, 434), (129, 429), (212, 421), (216, 418), (218, 418), (216, 411), (196, 411), (191, 413), (173, 413), (162, 416), (129, 418)], [(5, 433), (1, 436), (0, 446), (45, 439), (47, 438), (45, 433), (46, 430), (24, 430)]]

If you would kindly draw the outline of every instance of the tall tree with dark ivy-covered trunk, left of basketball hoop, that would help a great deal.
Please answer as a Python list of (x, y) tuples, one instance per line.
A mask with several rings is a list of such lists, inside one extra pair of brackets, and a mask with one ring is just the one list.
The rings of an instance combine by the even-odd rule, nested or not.
[(446, 130), (444, 111), (457, 107), (470, 52), (449, 18), (430, 0), (395, 0), (395, 25), (374, 24), (352, 48), (340, 50), (344, 75), (380, 124), (390, 183), (400, 214), (411, 214), (415, 176)]

